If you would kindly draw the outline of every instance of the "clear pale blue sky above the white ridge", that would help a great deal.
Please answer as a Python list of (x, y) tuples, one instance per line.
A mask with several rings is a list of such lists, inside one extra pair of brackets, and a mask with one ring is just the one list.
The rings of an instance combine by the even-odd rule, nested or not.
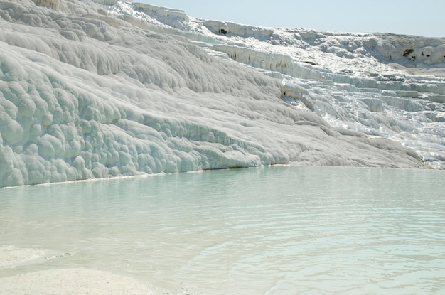
[(254, 26), (445, 37), (444, 0), (133, 0)]

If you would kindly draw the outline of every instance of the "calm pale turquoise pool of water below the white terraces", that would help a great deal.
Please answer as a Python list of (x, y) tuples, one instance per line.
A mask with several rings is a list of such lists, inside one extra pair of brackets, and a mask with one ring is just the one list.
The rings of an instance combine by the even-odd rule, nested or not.
[(0, 190), (0, 245), (157, 294), (445, 294), (445, 171), (272, 167)]

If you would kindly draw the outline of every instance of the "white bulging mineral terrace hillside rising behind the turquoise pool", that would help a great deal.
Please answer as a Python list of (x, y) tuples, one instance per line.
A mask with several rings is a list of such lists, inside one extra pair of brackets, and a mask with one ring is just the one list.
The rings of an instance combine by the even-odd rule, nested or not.
[(445, 40), (0, 1), (0, 187), (217, 168), (445, 168)]

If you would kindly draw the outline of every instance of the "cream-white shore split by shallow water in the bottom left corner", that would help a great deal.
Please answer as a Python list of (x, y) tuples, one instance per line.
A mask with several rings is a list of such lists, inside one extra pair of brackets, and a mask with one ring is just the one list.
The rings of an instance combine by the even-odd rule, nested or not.
[[(49, 252), (49, 251), (48, 251)], [(0, 269), (43, 259), (45, 250), (0, 246)], [(0, 277), (0, 294), (152, 294), (129, 277), (85, 268), (50, 269)]]

